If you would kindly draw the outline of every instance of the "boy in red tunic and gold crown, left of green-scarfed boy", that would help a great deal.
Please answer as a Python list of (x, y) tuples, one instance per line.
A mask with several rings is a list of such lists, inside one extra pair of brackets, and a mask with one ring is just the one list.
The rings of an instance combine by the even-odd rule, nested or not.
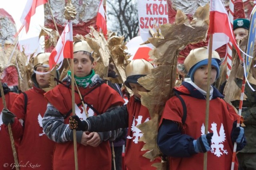
[(33, 88), (21, 93), (10, 110), (16, 115), (11, 127), (14, 141), (18, 144), (21, 170), (32, 167), (37, 170), (52, 169), (55, 143), (48, 139), (42, 127), (42, 118), (48, 103), (44, 98), (45, 91), (42, 89), (49, 87), (51, 75), (40, 74), (49, 70), (49, 56), (50, 53), (39, 53), (34, 57), (33, 65), (36, 73), (34, 72), (31, 77), (34, 82)]

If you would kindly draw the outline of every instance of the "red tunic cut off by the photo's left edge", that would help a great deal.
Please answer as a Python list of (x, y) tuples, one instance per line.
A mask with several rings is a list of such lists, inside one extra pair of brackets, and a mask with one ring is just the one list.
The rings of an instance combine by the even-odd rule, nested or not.
[[(12, 107), (14, 99), (18, 96), (18, 94), (9, 92), (4, 96), (5, 96), (7, 109), (10, 109)], [(4, 108), (3, 101), (2, 101), (2, 98), (0, 98), (0, 111), (2, 111), (3, 108)], [(2, 112), (0, 114), (2, 114)], [(12, 145), (10, 141), (10, 136), (8, 132), (4, 129), (4, 124), (2, 123), (2, 115), (0, 115), (0, 151), (1, 151), (0, 167), (3, 167), (4, 164), (7, 163), (8, 166), (6, 170), (12, 169), (12, 167), (10, 166), (11, 164), (14, 164)]]

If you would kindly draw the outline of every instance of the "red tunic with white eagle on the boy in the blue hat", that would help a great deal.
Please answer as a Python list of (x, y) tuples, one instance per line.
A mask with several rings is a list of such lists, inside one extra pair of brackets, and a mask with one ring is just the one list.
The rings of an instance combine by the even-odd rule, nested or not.
[[(190, 94), (184, 87), (178, 88), (182, 93)], [(192, 96), (180, 95), (185, 101), (187, 117), (183, 125), (183, 133), (198, 139), (204, 134), (206, 100), (197, 99)], [(162, 119), (182, 123), (183, 109), (180, 100), (174, 96), (166, 102)], [(162, 122), (161, 119), (161, 122)], [(231, 168), (233, 143), (231, 141), (231, 131), (233, 122), (237, 120), (234, 109), (220, 98), (210, 100), (209, 107), (209, 127), (208, 131), (213, 132), (212, 152), (207, 152), (207, 170), (229, 170)], [(160, 122), (160, 124), (161, 124)], [(171, 170), (203, 169), (204, 153), (194, 154), (190, 157), (171, 157)], [(238, 169), (236, 158), (235, 170)]]

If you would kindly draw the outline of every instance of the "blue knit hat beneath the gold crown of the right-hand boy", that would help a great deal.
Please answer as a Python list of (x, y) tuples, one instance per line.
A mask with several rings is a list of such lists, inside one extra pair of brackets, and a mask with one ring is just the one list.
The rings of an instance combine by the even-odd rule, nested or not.
[[(202, 61), (196, 63), (194, 66), (192, 66), (192, 68), (190, 68), (190, 70), (188, 72), (188, 76), (190, 76), (192, 82), (194, 82), (194, 73), (196, 72), (196, 70), (200, 66), (204, 66), (207, 64), (208, 64), (208, 59), (205, 59), (205, 60), (202, 60)], [(212, 66), (214, 66), (217, 70), (217, 75), (216, 75), (216, 79), (217, 79), (220, 75), (220, 67), (219, 67), (218, 61), (216, 59), (212, 59)]]

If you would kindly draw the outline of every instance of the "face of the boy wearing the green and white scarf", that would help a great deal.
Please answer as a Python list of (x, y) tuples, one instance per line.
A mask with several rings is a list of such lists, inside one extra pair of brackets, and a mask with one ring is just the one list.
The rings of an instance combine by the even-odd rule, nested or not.
[(83, 51), (74, 53), (74, 74), (78, 77), (85, 77), (90, 74), (91, 70), (94, 69), (95, 63), (90, 61), (88, 55), (83, 54)]

